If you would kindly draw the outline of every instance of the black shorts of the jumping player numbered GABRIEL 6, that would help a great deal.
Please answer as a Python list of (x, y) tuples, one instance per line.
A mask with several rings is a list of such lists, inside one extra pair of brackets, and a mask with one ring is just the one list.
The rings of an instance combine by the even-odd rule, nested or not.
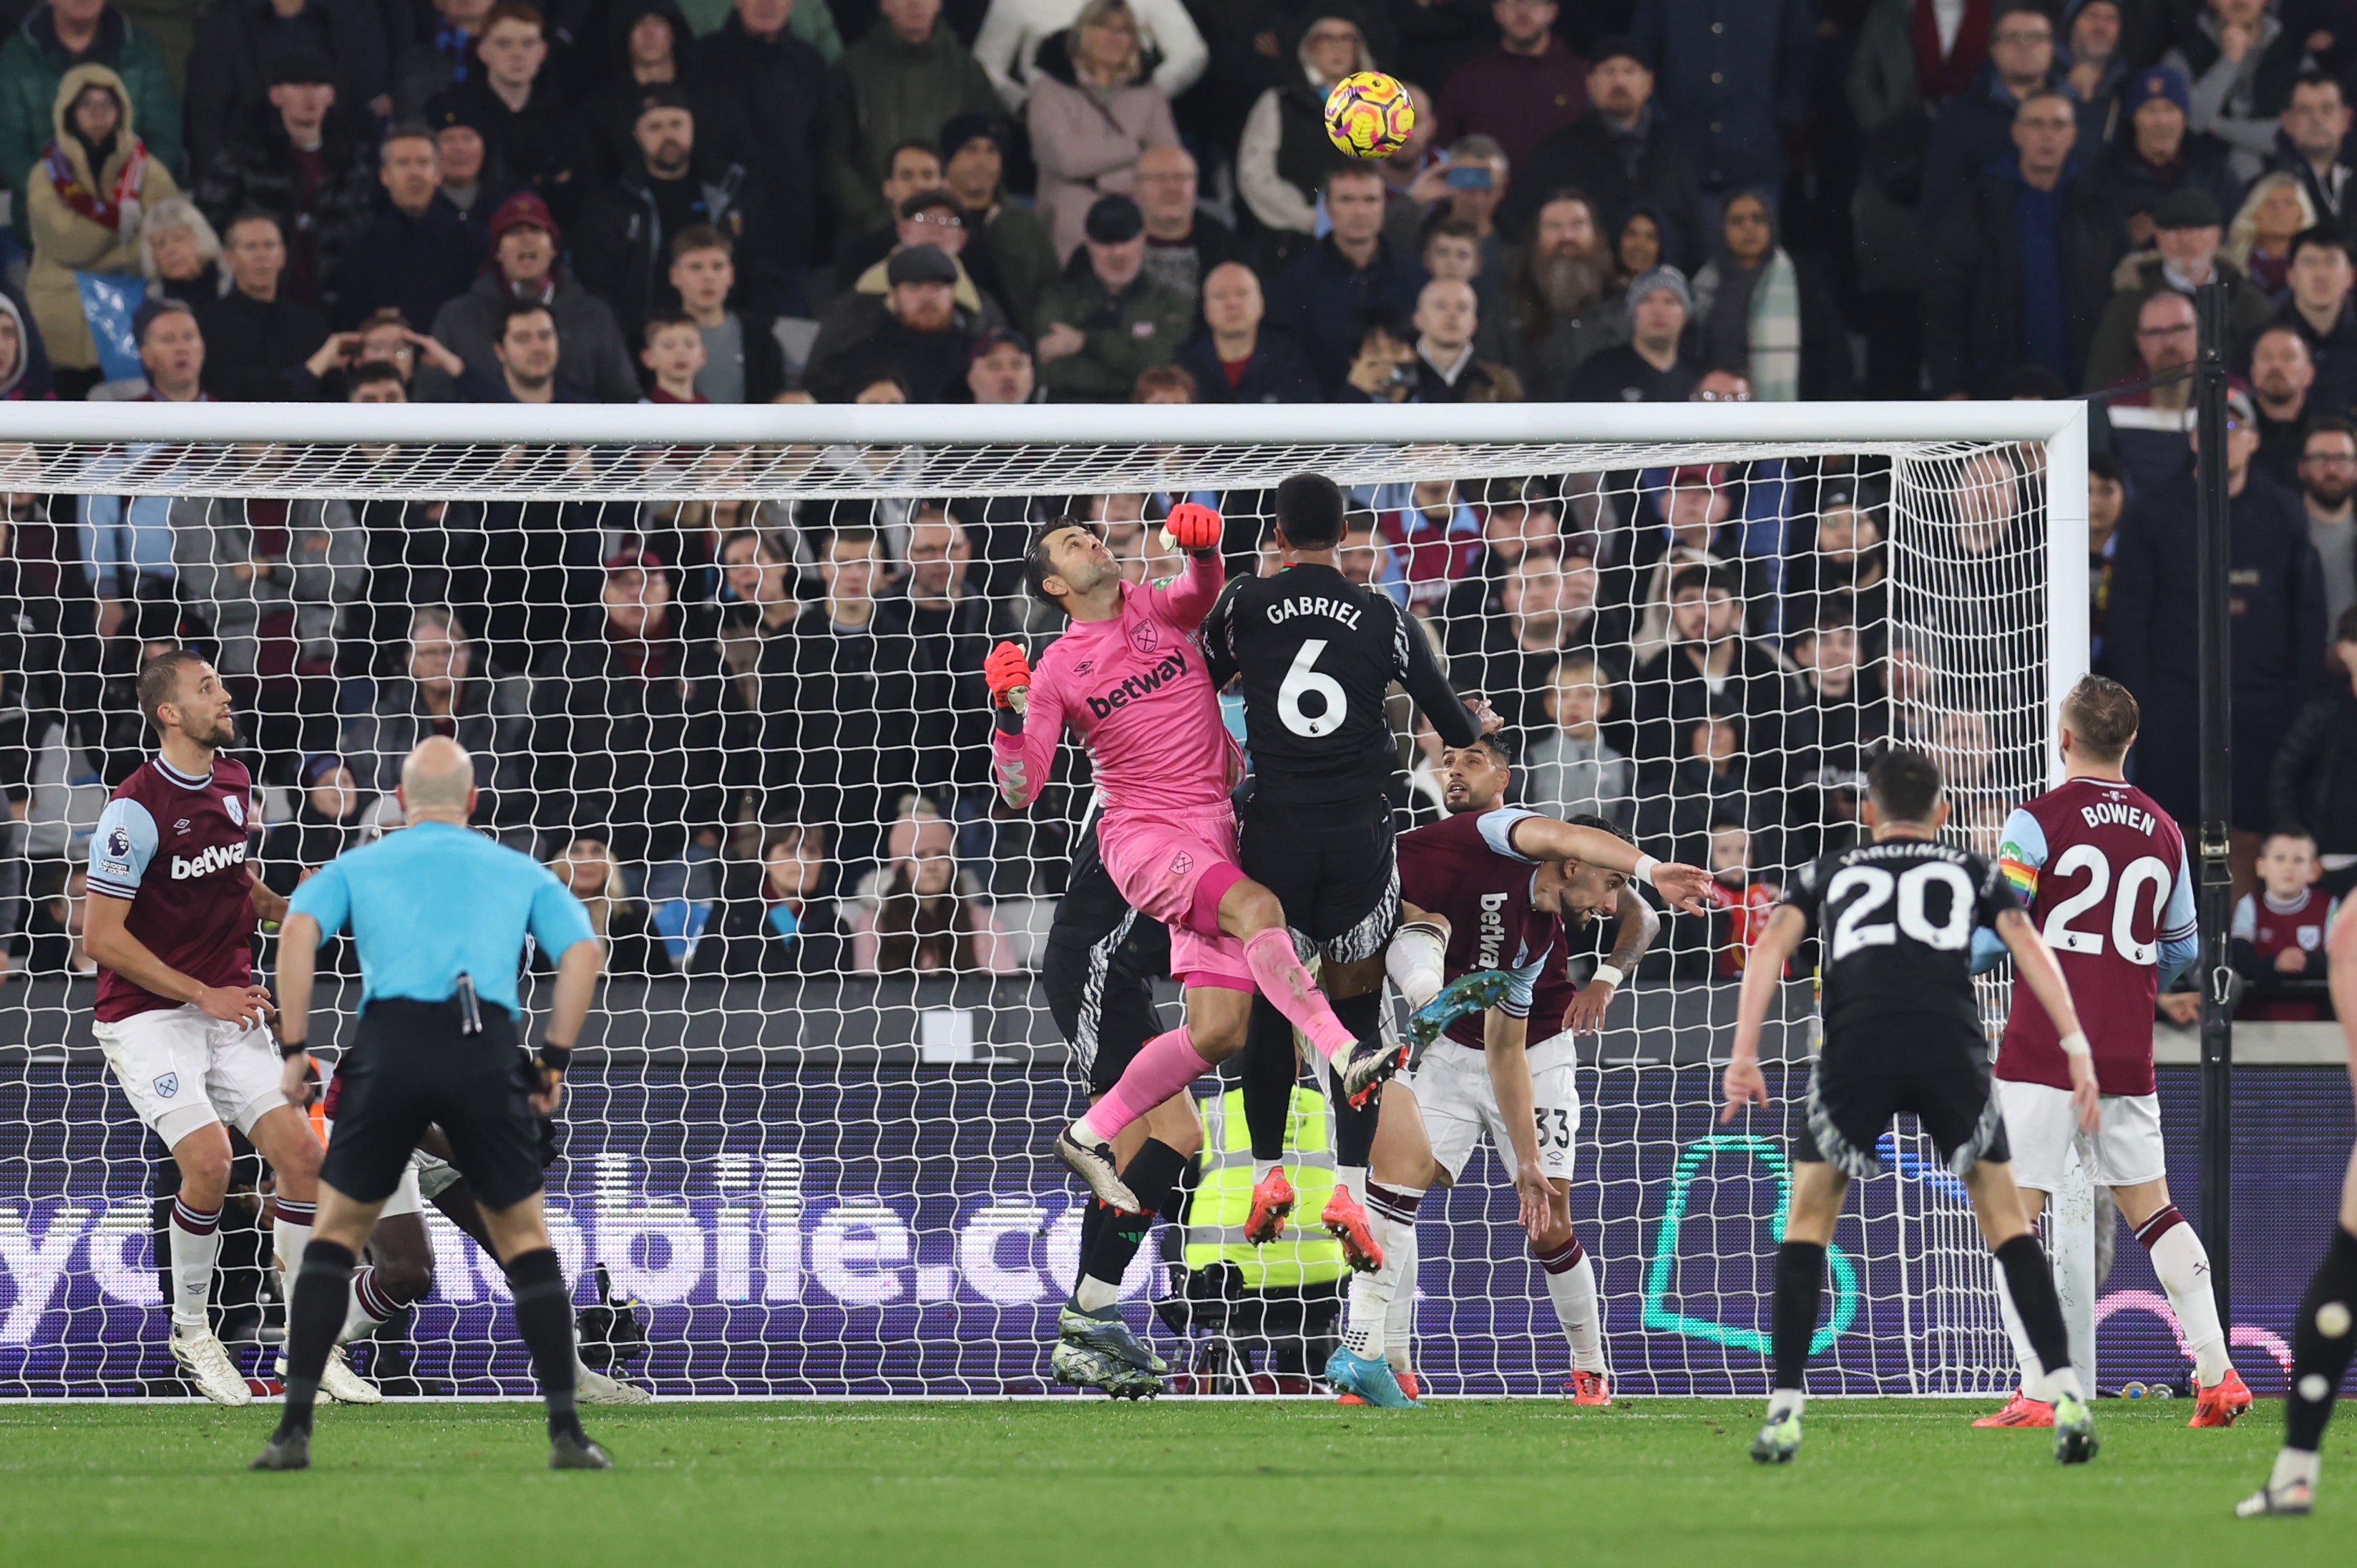
[(1348, 806), (1247, 799), (1235, 849), (1244, 875), (1285, 905), (1285, 924), (1329, 964), (1374, 957), (1400, 929), (1400, 858), (1381, 795)]

